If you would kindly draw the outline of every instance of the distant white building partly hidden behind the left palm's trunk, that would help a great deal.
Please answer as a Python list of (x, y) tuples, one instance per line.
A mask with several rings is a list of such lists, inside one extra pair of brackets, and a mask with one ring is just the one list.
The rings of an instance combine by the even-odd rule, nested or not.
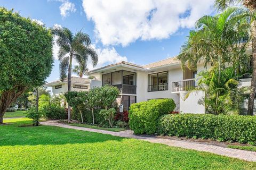
[[(88, 91), (90, 89), (90, 79), (71, 77), (71, 91)], [(52, 87), (53, 95), (68, 91), (68, 78), (63, 81), (57, 80), (45, 84), (46, 87)]]

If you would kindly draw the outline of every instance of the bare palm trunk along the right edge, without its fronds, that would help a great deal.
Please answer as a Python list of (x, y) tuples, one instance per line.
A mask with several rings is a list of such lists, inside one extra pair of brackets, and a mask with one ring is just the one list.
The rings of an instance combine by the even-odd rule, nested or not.
[(252, 22), (252, 81), (251, 92), (248, 101), (248, 115), (253, 115), (253, 105), (256, 89), (256, 21)]

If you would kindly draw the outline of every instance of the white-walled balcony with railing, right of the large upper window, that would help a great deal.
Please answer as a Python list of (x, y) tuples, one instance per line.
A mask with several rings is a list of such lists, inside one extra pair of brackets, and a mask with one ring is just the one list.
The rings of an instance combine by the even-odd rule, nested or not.
[(172, 92), (188, 91), (196, 87), (195, 79), (186, 79), (182, 81), (172, 82)]

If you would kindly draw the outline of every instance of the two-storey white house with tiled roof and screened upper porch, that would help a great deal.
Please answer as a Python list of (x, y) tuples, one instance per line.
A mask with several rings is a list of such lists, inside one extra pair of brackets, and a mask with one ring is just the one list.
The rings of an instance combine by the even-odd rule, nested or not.
[[(252, 54), (251, 48), (247, 53)], [(196, 71), (182, 70), (180, 61), (173, 57), (143, 66), (122, 61), (92, 70), (88, 75), (96, 79), (91, 81), (91, 88), (106, 84), (116, 86), (121, 92), (117, 102), (123, 103), (125, 109), (140, 101), (173, 98), (177, 111), (205, 113), (205, 107), (197, 103), (204, 96), (203, 92), (191, 93), (184, 100), (187, 90), (196, 86), (196, 74), (203, 70), (206, 68), (202, 62), (197, 64)], [(241, 86), (250, 86), (250, 81), (251, 78), (245, 75)]]

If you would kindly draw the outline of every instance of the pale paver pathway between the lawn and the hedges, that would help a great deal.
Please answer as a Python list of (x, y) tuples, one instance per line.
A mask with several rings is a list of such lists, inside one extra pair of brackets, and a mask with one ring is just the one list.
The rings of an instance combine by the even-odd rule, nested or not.
[(140, 139), (140, 140), (145, 140), (145, 141), (149, 141), (152, 143), (162, 143), (162, 144), (173, 146), (173, 147), (180, 147), (180, 148), (186, 148), (186, 149), (194, 149), (194, 150), (198, 150), (198, 151), (211, 152), (213, 154), (243, 159), (243, 160), (247, 160), (250, 162), (256, 162), (256, 152), (253, 152), (253, 151), (223, 148), (223, 147), (205, 145), (205, 144), (200, 144), (200, 143), (177, 141), (177, 140), (171, 140), (171, 139), (162, 139), (162, 138), (156, 138), (156, 137), (141, 137), (139, 135), (133, 134), (133, 131), (131, 131), (131, 130), (121, 131), (121, 132), (111, 132), (111, 131), (105, 131), (105, 130), (83, 128), (83, 127), (78, 127), (78, 126), (70, 126), (70, 125), (66, 125), (66, 124), (57, 123), (57, 121), (41, 122), (41, 124), (50, 125), (50, 126), (59, 126), (61, 128), (76, 129), (76, 130), (97, 132), (97, 133), (103, 133), (103, 134), (111, 134), (111, 135), (114, 135), (117, 137)]

